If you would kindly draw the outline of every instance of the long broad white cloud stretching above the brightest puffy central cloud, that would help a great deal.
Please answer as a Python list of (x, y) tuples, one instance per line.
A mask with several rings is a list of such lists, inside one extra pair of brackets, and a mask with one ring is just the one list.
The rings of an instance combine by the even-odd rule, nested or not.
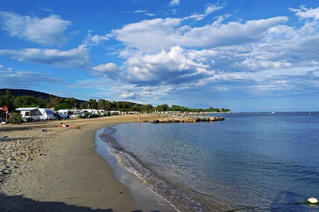
[(273, 17), (247, 21), (245, 24), (212, 23), (192, 28), (182, 25), (182, 19), (150, 19), (128, 24), (114, 30), (112, 34), (117, 40), (132, 48), (151, 51), (169, 49), (171, 46), (214, 48), (259, 42), (270, 28), (287, 20), (287, 17)]

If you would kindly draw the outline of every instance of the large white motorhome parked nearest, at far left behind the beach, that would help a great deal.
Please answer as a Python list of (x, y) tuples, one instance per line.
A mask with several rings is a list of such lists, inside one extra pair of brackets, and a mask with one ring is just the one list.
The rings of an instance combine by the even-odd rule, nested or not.
[(24, 122), (53, 120), (53, 112), (48, 108), (40, 107), (19, 107), (15, 109), (21, 112), (21, 119)]

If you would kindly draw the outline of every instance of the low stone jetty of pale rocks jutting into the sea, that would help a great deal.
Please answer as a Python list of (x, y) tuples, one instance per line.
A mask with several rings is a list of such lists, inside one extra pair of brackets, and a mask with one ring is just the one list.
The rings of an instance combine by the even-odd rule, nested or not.
[(202, 122), (202, 121), (224, 121), (224, 117), (216, 116), (184, 116), (184, 117), (169, 117), (159, 118), (146, 121), (148, 123), (191, 123), (191, 122)]

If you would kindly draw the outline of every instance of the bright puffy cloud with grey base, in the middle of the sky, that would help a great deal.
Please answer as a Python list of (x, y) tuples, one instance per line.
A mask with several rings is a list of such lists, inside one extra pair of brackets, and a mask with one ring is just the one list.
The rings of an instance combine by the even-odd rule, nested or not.
[(214, 71), (208, 65), (191, 60), (180, 46), (169, 52), (135, 55), (126, 62), (125, 79), (141, 85), (177, 85), (209, 76)]

